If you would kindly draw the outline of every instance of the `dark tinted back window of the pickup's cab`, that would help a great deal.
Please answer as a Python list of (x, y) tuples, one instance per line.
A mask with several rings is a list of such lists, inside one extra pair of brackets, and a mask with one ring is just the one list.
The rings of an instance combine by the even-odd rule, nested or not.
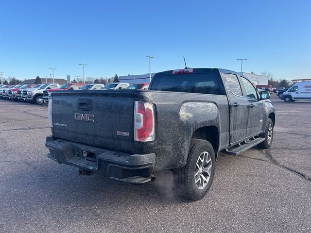
[(204, 73), (193, 69), (190, 74), (173, 75), (169, 71), (163, 74), (154, 77), (149, 90), (225, 95), (219, 72)]

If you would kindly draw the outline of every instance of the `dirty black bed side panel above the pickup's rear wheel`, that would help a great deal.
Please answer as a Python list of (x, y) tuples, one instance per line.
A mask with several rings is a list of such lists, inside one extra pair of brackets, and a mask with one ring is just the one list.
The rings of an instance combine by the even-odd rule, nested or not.
[(191, 136), (196, 129), (216, 126), (220, 132), (220, 144), (229, 140), (228, 102), (225, 95), (163, 91), (135, 91), (134, 93), (135, 100), (145, 100), (155, 104), (155, 141), (135, 142), (136, 153), (156, 154), (155, 170), (184, 166)]

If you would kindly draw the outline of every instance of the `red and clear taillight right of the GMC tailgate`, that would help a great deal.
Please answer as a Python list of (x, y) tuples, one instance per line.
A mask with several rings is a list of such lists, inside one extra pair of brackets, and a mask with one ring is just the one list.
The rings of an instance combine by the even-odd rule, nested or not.
[(139, 142), (155, 140), (155, 108), (151, 103), (135, 102), (134, 140)]

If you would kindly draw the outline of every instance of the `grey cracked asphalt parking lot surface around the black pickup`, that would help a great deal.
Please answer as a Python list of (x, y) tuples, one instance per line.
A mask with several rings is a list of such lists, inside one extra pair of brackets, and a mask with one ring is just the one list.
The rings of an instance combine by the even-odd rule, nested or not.
[(0, 100), (0, 232), (311, 232), (311, 102), (275, 94), (273, 145), (220, 154), (207, 196), (170, 171), (133, 186), (47, 158), (47, 105)]

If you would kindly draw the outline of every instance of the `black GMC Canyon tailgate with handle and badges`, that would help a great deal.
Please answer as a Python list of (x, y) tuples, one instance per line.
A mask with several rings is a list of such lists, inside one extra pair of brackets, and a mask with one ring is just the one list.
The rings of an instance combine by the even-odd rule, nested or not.
[(100, 148), (134, 153), (133, 111), (133, 91), (53, 92), (53, 135)]

